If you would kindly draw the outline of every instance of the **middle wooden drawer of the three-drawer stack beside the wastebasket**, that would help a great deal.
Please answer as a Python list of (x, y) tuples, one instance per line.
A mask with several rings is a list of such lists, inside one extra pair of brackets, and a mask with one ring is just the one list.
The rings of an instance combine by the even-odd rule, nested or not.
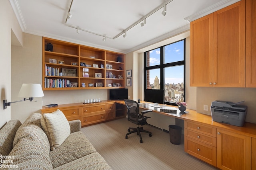
[(216, 147), (216, 144), (217, 144), (216, 137), (205, 135), (203, 133), (192, 131), (192, 130), (189, 130), (189, 129), (186, 129), (186, 128), (184, 129), (184, 135), (186, 137), (190, 137), (192, 139), (195, 139), (197, 141), (206, 143), (208, 145), (212, 145), (214, 147)]

